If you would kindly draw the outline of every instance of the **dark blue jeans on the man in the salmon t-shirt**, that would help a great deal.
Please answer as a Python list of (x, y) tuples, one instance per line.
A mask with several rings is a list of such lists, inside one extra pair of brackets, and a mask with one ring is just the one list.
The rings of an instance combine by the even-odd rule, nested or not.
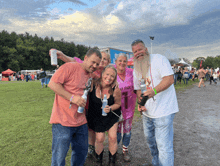
[(65, 158), (71, 143), (71, 166), (83, 166), (88, 152), (88, 127), (66, 127), (52, 125), (52, 159), (51, 166), (64, 166)]

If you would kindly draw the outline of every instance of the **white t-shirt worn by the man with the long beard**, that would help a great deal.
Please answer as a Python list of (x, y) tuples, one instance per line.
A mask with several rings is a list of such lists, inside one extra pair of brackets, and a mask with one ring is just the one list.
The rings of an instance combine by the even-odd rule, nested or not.
[[(173, 70), (168, 59), (160, 54), (150, 55), (151, 67), (148, 75), (151, 80), (150, 87), (156, 87), (164, 76), (173, 75)], [(141, 75), (135, 73), (134, 70), (134, 89), (140, 90)], [(145, 116), (150, 118), (160, 118), (179, 111), (176, 91), (172, 84), (166, 90), (158, 93), (153, 98), (147, 100), (145, 107), (147, 111), (143, 112)]]

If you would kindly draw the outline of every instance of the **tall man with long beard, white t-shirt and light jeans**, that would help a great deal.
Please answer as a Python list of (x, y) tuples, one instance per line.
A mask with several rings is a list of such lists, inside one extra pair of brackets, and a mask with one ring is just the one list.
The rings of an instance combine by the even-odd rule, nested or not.
[(160, 54), (149, 54), (142, 40), (131, 44), (134, 53), (134, 89), (141, 101), (140, 80), (144, 79), (148, 96), (144, 106), (138, 106), (143, 113), (143, 128), (150, 148), (153, 166), (173, 166), (173, 119), (179, 111), (174, 89), (173, 70), (170, 62)]

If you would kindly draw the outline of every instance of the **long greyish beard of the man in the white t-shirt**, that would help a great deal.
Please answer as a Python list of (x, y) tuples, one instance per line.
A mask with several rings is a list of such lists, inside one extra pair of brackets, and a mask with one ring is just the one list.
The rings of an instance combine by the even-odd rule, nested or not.
[(137, 60), (134, 58), (134, 70), (135, 70), (135, 75), (138, 79), (148, 78), (148, 71), (150, 68), (150, 54), (147, 51), (147, 55), (143, 56), (142, 60)]

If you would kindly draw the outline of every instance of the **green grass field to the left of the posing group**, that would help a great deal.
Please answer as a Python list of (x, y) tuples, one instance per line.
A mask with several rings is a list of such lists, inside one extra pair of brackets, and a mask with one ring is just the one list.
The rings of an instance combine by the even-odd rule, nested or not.
[[(188, 86), (194, 82), (190, 81)], [(177, 84), (177, 90), (186, 85)], [(54, 92), (39, 81), (0, 82), (0, 166), (48, 166)], [(136, 110), (135, 116), (140, 114)], [(66, 165), (70, 165), (70, 153)]]

